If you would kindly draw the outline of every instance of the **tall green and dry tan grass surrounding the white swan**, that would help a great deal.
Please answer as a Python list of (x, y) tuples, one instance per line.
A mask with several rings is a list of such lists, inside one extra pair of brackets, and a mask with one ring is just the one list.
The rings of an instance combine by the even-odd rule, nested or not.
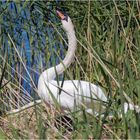
[[(28, 2), (26, 4), (28, 5)], [(26, 4), (24, 5), (25, 7)], [(40, 4), (43, 5), (43, 2), (40, 2)], [(135, 110), (128, 110), (124, 114), (123, 108), (124, 102), (129, 101), (126, 95), (131, 99), (131, 102), (140, 106), (139, 1), (61, 1), (59, 5), (64, 7), (71, 17), (78, 40), (75, 62), (66, 70), (64, 78), (87, 80), (100, 85), (109, 100), (105, 116), (101, 118), (100, 116), (88, 115), (83, 108), (81, 109), (81, 113), (68, 112), (68, 115), (73, 119), (73, 131), (68, 132), (65, 128), (56, 129), (54, 126), (55, 118), (62, 115), (58, 110), (54, 107), (49, 109), (43, 104), (35, 105), (18, 114), (1, 117), (0, 121), (3, 124), (1, 128), (5, 136), (10, 138), (42, 139), (139, 139), (139, 114)], [(45, 25), (50, 25), (50, 22), (46, 22), (45, 20), (42, 20), (42, 22)], [(65, 38), (65, 33), (61, 32), (60, 29), (61, 24), (51, 24), (54, 28), (59, 28), (58, 32)], [(35, 46), (37, 47), (36, 56), (46, 51), (45, 55), (43, 55), (46, 62), (50, 60), (51, 53), (55, 54), (54, 43), (58, 40), (64, 44), (63, 38), (58, 34), (56, 29), (54, 42), (50, 42), (49, 37), (46, 36), (45, 50), (42, 51), (41, 47)], [(16, 42), (10, 37), (8, 38), (10, 46), (14, 47)], [(34, 47), (31, 34), (29, 34), (29, 40), (32, 47)], [(65, 53), (66, 50), (65, 48), (63, 49)], [(49, 50), (52, 50), (51, 53)], [(14, 51), (17, 51), (17, 61), (21, 63), (21, 68), (26, 69), (26, 66), (24, 68), (23, 65), (26, 58), (20, 57), (18, 50), (15, 49)], [(59, 50), (57, 53), (59, 54)], [(53, 65), (56, 63), (56, 57), (58, 58), (56, 54), (54, 56), (52, 59)], [(4, 58), (3, 54), (0, 53), (0, 57)], [(3, 78), (7, 81), (13, 78), (10, 75), (12, 67), (10, 60), (12, 61), (9, 58), (7, 62), (6, 58), (4, 58), (0, 61), (1, 77), (3, 78), (2, 71), (5, 70), (5, 67), (5, 71), (9, 73), (9, 76), (5, 75)], [(41, 72), (44, 68), (41, 67), (41, 60), (37, 59), (37, 61), (40, 62), (38, 67), (41, 68)], [(4, 67), (5, 63), (7, 65)], [(35, 68), (33, 69), (36, 71)], [(32, 79), (33, 77), (30, 78)], [(0, 86), (2, 87), (0, 93), (6, 93), (6, 88), (8, 88), (12, 96), (17, 91), (21, 92), (22, 88), (18, 84), (17, 79), (15, 77), (14, 81), (8, 82), (4, 87)], [(33, 87), (35, 88), (35, 85)], [(34, 91), (34, 94), (37, 93)], [(3, 100), (1, 99), (1, 101)], [(6, 104), (5, 101), (4, 103)], [(113, 114), (113, 119), (108, 119), (109, 114)], [(122, 114), (121, 118), (120, 114)]]

